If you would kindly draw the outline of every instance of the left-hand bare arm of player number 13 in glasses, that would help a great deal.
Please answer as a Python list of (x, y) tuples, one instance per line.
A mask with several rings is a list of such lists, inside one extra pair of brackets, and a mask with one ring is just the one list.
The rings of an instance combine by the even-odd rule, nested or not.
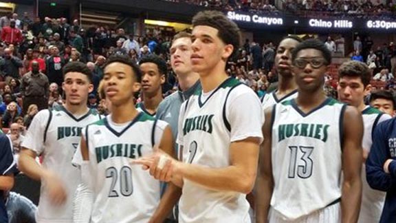
[(267, 222), (268, 211), (272, 191), (274, 189), (274, 177), (272, 176), (272, 109), (265, 111), (265, 123), (263, 125), (264, 142), (261, 145), (259, 155), (259, 171), (257, 172), (256, 189), (256, 223)]

